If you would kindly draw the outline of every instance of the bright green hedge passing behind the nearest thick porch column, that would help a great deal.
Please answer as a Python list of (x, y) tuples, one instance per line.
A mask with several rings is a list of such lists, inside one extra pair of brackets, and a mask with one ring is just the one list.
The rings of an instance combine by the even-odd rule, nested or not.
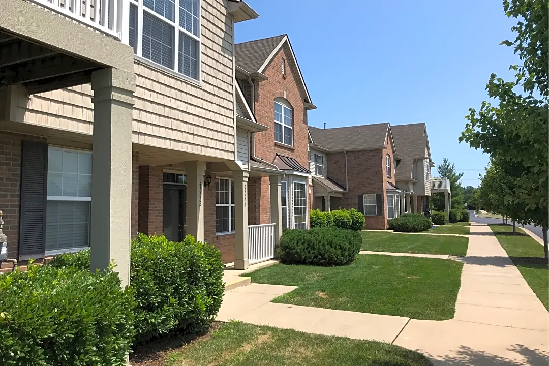
[[(89, 271), (89, 250), (55, 257), (53, 267)], [(131, 243), (130, 285), (137, 307), (136, 340), (178, 330), (197, 333), (209, 328), (221, 307), (223, 263), (215, 247), (195, 241), (139, 234)]]

